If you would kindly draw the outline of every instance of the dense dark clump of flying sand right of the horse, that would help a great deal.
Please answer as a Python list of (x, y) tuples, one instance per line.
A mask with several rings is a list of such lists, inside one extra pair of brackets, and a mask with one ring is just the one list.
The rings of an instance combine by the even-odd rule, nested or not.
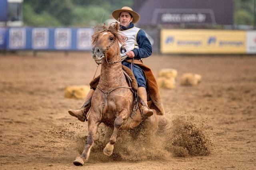
[(212, 142), (205, 132), (204, 124), (198, 124), (194, 116), (176, 116), (172, 120), (171, 146), (175, 156), (206, 156), (210, 154)]

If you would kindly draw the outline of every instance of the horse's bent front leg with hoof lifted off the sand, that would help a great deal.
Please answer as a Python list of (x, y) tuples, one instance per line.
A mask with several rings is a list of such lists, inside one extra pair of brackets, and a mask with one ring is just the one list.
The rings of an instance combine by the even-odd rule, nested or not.
[(103, 153), (107, 156), (112, 155), (114, 150), (114, 144), (116, 143), (116, 136), (118, 133), (119, 128), (124, 124), (124, 121), (127, 120), (128, 117), (128, 110), (124, 109), (122, 110), (119, 115), (116, 117), (114, 122), (114, 131), (113, 134), (110, 137), (109, 142), (106, 144)]

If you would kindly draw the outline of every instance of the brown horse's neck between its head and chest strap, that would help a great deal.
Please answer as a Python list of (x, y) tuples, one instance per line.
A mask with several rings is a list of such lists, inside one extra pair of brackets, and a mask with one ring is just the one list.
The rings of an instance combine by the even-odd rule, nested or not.
[[(116, 59), (117, 61), (118, 59)], [(108, 64), (102, 61), (99, 86), (105, 90), (111, 90), (118, 86), (124, 86), (124, 73), (121, 62)]]

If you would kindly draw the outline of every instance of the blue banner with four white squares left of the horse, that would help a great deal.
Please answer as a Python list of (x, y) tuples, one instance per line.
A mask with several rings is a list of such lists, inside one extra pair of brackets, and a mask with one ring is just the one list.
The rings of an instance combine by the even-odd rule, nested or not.
[(92, 34), (92, 28), (10, 28), (7, 49), (88, 51)]

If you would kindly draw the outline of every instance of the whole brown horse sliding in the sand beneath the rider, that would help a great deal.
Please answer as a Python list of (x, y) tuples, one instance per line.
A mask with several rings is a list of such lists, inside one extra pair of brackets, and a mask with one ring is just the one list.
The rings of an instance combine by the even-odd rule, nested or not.
[(76, 166), (82, 166), (88, 161), (90, 150), (94, 142), (100, 123), (114, 128), (109, 142), (103, 153), (110, 156), (114, 149), (119, 129), (135, 128), (143, 121), (143, 128), (147, 128), (148, 134), (155, 133), (158, 129), (158, 119), (155, 113), (148, 118), (142, 118), (138, 110), (133, 119), (129, 119), (133, 105), (133, 94), (128, 88), (128, 83), (122, 71), (120, 48), (124, 38), (118, 32), (119, 24), (98, 26), (98, 30), (92, 35), (92, 57), (98, 63), (101, 62), (101, 73), (98, 86), (92, 96), (90, 117), (88, 118), (88, 137), (81, 156), (73, 162)]

